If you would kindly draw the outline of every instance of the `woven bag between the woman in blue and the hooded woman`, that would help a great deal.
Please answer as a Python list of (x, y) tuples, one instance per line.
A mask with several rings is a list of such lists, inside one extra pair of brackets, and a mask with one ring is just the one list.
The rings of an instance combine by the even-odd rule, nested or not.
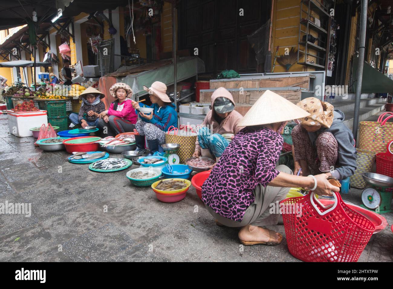
[(195, 151), (196, 133), (192, 130), (178, 130), (177, 127), (169, 127), (165, 134), (165, 143), (180, 144), (177, 152), (180, 158), (180, 164), (184, 164), (187, 158), (191, 158)]

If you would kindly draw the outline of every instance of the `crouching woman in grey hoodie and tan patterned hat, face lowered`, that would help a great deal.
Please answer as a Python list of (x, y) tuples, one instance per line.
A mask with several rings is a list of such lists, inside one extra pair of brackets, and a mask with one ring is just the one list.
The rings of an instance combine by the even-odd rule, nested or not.
[(298, 107), (311, 115), (301, 118), (292, 130), (295, 174), (327, 173), (338, 180), (356, 170), (356, 149), (352, 131), (343, 123), (344, 114), (328, 102), (305, 98)]

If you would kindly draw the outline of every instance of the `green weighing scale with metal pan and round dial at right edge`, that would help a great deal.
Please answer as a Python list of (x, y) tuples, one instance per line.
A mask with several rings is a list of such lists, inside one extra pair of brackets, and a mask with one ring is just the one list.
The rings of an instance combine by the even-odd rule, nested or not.
[(362, 191), (362, 207), (378, 214), (392, 212), (391, 201), (393, 192), (387, 188), (393, 187), (393, 178), (377, 173), (362, 173), (363, 179), (371, 185)]

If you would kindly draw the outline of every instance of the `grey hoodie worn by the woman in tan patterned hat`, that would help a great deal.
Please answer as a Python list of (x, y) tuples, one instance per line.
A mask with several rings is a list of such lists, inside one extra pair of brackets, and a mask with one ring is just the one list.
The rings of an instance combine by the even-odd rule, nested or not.
[(327, 131), (332, 133), (338, 143), (338, 168), (332, 171), (332, 176), (337, 179), (345, 179), (355, 173), (357, 167), (355, 141), (352, 131), (343, 123), (344, 113), (341, 110), (333, 111), (333, 123), (327, 128), (321, 128), (314, 133), (309, 133), (311, 143), (315, 146), (315, 140), (319, 134)]

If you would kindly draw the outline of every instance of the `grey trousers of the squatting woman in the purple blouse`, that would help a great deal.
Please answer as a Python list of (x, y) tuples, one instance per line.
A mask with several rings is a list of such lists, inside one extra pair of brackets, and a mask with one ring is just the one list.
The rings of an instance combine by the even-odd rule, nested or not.
[[(282, 171), (283, 173), (287, 173), (292, 175), (292, 171), (285, 165), (279, 165), (276, 167), (277, 170)], [(242, 219), (241, 222), (233, 221), (226, 217), (222, 217), (221, 215), (214, 212), (210, 207), (206, 206), (209, 213), (219, 221), (222, 225), (228, 227), (243, 227), (246, 225), (252, 226), (269, 226), (269, 225), (277, 225), (280, 214), (279, 208), (277, 208), (276, 201), (280, 202), (285, 199), (286, 194), (290, 188), (280, 188), (280, 187), (272, 187), (266, 186), (265, 188), (258, 184), (254, 189), (255, 201), (251, 204)], [(274, 212), (277, 214), (270, 214), (270, 208), (275, 206)]]

